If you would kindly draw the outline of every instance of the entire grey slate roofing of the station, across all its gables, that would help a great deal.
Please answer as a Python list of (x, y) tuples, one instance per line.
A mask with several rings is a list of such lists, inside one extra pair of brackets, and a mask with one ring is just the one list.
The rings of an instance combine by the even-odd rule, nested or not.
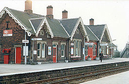
[[(46, 16), (39, 14), (28, 14), (8, 7), (5, 7), (5, 9), (7, 9), (7, 11), (9, 11), (32, 34), (35, 34), (39, 30), (44, 20), (47, 20), (54, 37), (69, 38), (79, 21), (79, 18), (57, 20), (49, 19)], [(85, 27), (89, 39), (97, 41), (101, 38), (105, 25), (88, 25)]]

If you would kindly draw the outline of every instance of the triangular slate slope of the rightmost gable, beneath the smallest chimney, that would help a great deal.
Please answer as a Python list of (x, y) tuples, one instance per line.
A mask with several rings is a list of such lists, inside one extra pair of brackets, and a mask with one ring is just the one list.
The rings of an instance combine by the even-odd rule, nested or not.
[(87, 25), (92, 31), (93, 33), (99, 38), (99, 40), (101, 39), (101, 36), (103, 34), (105, 25)]

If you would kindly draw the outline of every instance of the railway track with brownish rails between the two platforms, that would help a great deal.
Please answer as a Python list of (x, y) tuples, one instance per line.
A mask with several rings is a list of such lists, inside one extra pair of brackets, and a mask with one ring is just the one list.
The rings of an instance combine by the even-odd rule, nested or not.
[(97, 71), (91, 71), (89, 73), (83, 72), (83, 73), (77, 73), (74, 75), (67, 75), (67, 76), (61, 76), (61, 77), (55, 77), (55, 78), (49, 78), (49, 79), (43, 79), (43, 80), (30, 81), (30, 82), (25, 82), (21, 84), (70, 84), (71, 82), (77, 84), (78, 81), (84, 82), (88, 80), (93, 80), (96, 78), (120, 73), (127, 70), (129, 70), (127, 66), (114, 67), (114, 68), (102, 69)]

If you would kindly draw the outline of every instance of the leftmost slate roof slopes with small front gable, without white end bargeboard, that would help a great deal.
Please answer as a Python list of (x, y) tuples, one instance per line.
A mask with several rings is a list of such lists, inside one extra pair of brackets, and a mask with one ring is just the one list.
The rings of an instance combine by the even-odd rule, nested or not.
[[(54, 37), (63, 37), (63, 38), (69, 38), (68, 34), (65, 32), (63, 27), (60, 25), (59, 21), (56, 19), (50, 20), (49, 18), (38, 15), (38, 14), (28, 14), (22, 11), (10, 9), (8, 7), (5, 7), (22, 25), (25, 26), (25, 28), (29, 31), (31, 31), (32, 34), (35, 34), (34, 29), (36, 32), (38, 31), (39, 27), (41, 26), (42, 21), (46, 18), (48, 21), (48, 24), (54, 34)], [(37, 18), (37, 19), (35, 19)], [(30, 21), (29, 21), (30, 20)], [(32, 24), (31, 24), (32, 23)], [(33, 29), (33, 27), (34, 29)]]

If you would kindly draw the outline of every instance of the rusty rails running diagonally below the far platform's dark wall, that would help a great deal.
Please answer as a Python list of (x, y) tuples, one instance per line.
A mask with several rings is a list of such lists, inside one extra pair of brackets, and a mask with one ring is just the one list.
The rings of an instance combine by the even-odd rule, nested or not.
[(97, 71), (91, 71), (91, 72), (82, 72), (77, 73), (74, 75), (68, 75), (68, 76), (61, 76), (61, 77), (55, 77), (50, 79), (43, 79), (43, 80), (37, 80), (37, 81), (31, 81), (31, 82), (25, 82), (20, 84), (60, 84), (60, 83), (69, 83), (70, 81), (79, 80), (83, 78), (93, 77), (93, 76), (99, 76), (102, 74), (113, 74), (118, 71), (125, 71), (128, 70), (129, 67), (127, 66), (120, 66), (120, 67), (113, 67), (108, 69), (102, 69)]

